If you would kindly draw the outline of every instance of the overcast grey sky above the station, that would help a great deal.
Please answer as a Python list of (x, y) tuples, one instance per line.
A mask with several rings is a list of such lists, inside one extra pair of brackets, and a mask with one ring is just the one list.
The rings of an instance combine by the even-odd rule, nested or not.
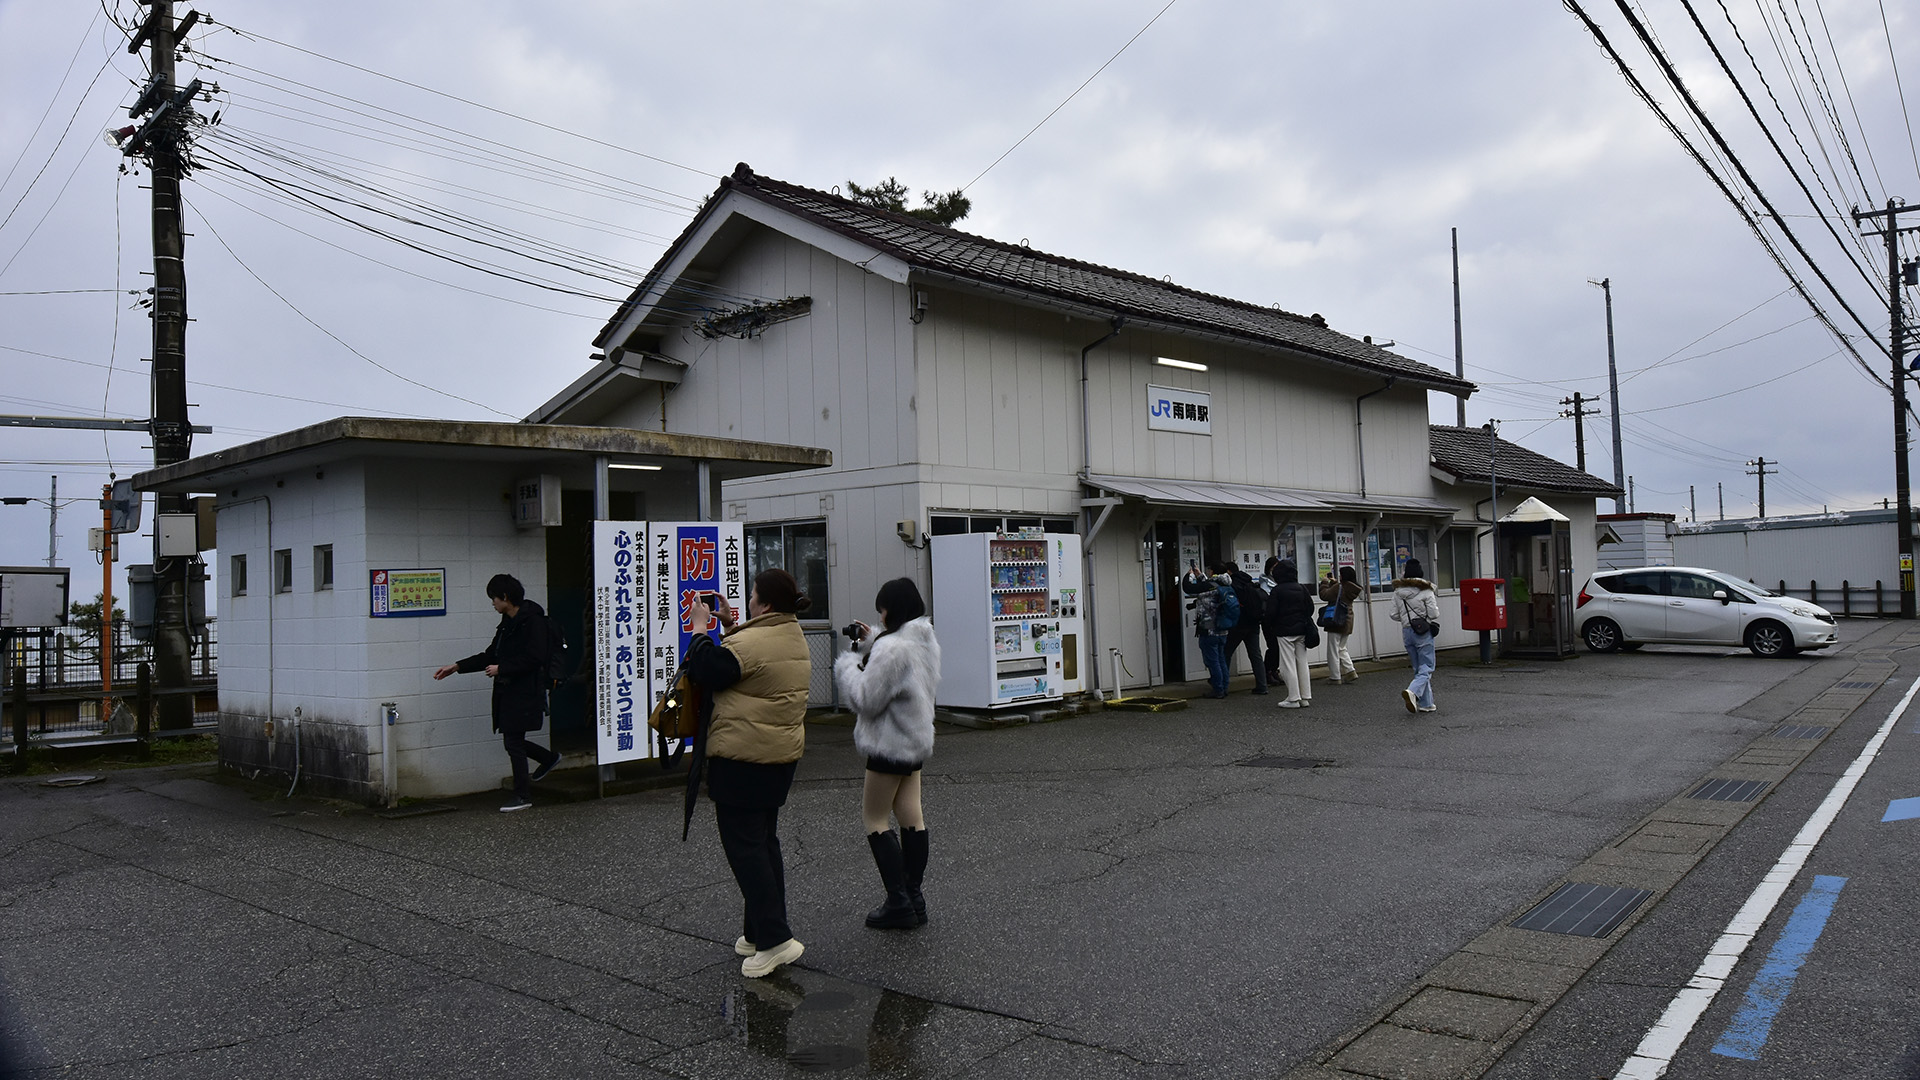
[[(1657, 81), (1619, 12), (1586, 6)], [(1684, 10), (1651, 8), (1709, 117), (1884, 340), (1884, 286), (1857, 269), (1885, 273), (1878, 240), (1843, 248), (1826, 231)], [(1816, 196), (1832, 192), (1822, 208), (1843, 238), (1855, 227), (1839, 213), (1853, 204), (1920, 200), (1893, 75), (1903, 63), (1920, 106), (1910, 6), (1885, 8), (1889, 50), (1876, 0), (1788, 6), (1793, 23), (1728, 0), (1791, 131), (1722, 8), (1695, 10), (1788, 152), (1799, 138), (1816, 163), (1795, 158)], [(119, 0), (113, 15), (138, 12)], [(1893, 494), (1887, 390), (1561, 4), (228, 0), (205, 13), (217, 23), (194, 31), (180, 65), (182, 81), (221, 88), (198, 106), (221, 123), (200, 136), (205, 167), (186, 184), (190, 400), (194, 421), (215, 429), (196, 454), (348, 413), (526, 415), (584, 371), (612, 309), (601, 298), (624, 296), (718, 177), (747, 161), (820, 188), (889, 175), (916, 190), (968, 186), (962, 229), (1319, 311), (1446, 369), (1457, 227), (1467, 377), (1482, 386), (1469, 423), (1498, 419), (1503, 436), (1574, 459), (1572, 421), (1553, 417), (1574, 390), (1605, 409), (1603, 298), (1588, 281), (1607, 277), (1638, 509), (1686, 517), (1693, 484), (1711, 519), (1724, 482), (1726, 513), (1749, 515), (1751, 457), (1786, 469), (1768, 477), (1770, 515)], [(1812, 77), (1799, 67), (1807, 38)], [(131, 123), (125, 106), (144, 79), (125, 40), (86, 0), (0, 0), (6, 413), (148, 415), (152, 329), (136, 296), (23, 296), (150, 284), (144, 175), (121, 175), (102, 138)], [(1845, 146), (1832, 121), (1807, 119), (1803, 98), (1816, 117), (1832, 102)], [(522, 163), (503, 165), (507, 152)], [(305, 167), (384, 192), (361, 190), (365, 208), (399, 213), (384, 202), (399, 194), (461, 215), (442, 229), (520, 254), (305, 194), (520, 281), (298, 202), (346, 190)], [(551, 244), (541, 258), (599, 277), (528, 259), (536, 242)], [(1789, 259), (1885, 379), (1882, 346)], [(1440, 423), (1453, 407), (1432, 398)], [(1601, 477), (1607, 423), (1586, 429), (1588, 469)], [(4, 496), (44, 498), (58, 473), (63, 500), (92, 500), (109, 463), (125, 477), (152, 461), (136, 434), (0, 438)], [(90, 502), (63, 507), (61, 565), (90, 563)], [(46, 507), (0, 507), (0, 563), (44, 559)]]

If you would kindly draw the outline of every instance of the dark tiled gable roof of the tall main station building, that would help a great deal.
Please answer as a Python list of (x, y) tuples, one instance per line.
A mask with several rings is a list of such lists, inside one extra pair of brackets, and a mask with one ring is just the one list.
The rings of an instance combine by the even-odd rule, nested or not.
[[(1242, 300), (1212, 296), (1144, 275), (1050, 256), (1020, 244), (989, 240), (904, 213), (874, 209), (828, 192), (760, 177), (745, 163), (732, 177), (720, 181), (720, 190), (714, 198), (718, 200), (718, 196), (730, 190), (797, 213), (806, 221), (851, 236), (922, 271), (1012, 288), (1035, 298), (1052, 298), (1102, 313), (1225, 334), (1256, 346), (1281, 346), (1344, 367), (1373, 375), (1392, 375), (1436, 390), (1473, 392), (1473, 382), (1457, 379), (1450, 371), (1417, 363), (1375, 344), (1331, 331), (1319, 315), (1294, 315), (1279, 307), (1261, 307)], [(682, 234), (682, 242), (685, 236)], [(668, 250), (668, 258), (674, 256), (674, 250)], [(645, 284), (636, 292), (636, 298), (643, 292)], [(634, 300), (628, 300), (628, 306), (632, 304)], [(626, 315), (628, 306), (609, 323), (601, 338)]]

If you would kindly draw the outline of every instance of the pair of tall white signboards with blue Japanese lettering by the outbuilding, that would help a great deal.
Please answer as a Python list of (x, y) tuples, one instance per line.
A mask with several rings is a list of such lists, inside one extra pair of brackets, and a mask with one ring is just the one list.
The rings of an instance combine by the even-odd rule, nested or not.
[(653, 757), (647, 713), (693, 638), (693, 601), (718, 592), (747, 613), (745, 527), (712, 521), (597, 521), (593, 592), (599, 763)]

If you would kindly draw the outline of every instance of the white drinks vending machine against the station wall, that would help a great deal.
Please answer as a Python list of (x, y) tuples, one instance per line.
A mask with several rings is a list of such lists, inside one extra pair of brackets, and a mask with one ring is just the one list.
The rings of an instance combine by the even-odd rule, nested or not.
[(939, 703), (1000, 709), (1087, 686), (1081, 546), (1073, 532), (933, 538)]

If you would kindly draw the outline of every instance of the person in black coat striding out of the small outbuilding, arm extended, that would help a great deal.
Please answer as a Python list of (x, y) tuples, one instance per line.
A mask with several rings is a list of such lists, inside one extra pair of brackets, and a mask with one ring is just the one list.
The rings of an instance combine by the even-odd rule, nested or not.
[[(538, 732), (547, 713), (547, 611), (526, 598), (526, 588), (513, 575), (493, 575), (486, 594), (499, 611), (493, 642), (486, 651), (436, 669), (434, 678), (484, 671), (493, 680), (493, 730), (513, 763), (513, 798), (499, 811), (513, 813), (534, 805), (532, 782), (561, 761), (557, 751), (526, 742), (526, 732)], [(526, 771), (528, 757), (540, 761), (532, 774)]]

